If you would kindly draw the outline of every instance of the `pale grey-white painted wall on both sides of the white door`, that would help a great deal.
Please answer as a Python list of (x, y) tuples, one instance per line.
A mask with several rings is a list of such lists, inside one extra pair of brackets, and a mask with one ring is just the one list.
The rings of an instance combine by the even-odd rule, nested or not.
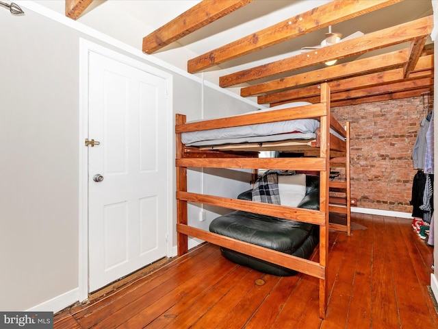
[[(25, 16), (0, 10), (0, 310), (57, 311), (80, 295), (79, 38), (99, 40), (23, 9)], [(219, 90), (206, 92), (200, 80), (173, 75), (174, 113), (189, 120), (218, 113), (222, 104), (227, 112), (253, 109)], [(205, 108), (212, 99), (214, 108)], [(220, 178), (193, 174), (195, 190), (222, 186)], [(244, 180), (217, 192), (235, 195)]]

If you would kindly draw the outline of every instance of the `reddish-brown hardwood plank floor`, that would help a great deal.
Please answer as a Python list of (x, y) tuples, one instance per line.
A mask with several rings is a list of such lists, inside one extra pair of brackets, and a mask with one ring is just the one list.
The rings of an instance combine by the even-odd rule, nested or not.
[(352, 221), (366, 229), (350, 237), (330, 232), (324, 320), (317, 279), (253, 271), (207, 243), (111, 295), (58, 313), (54, 328), (438, 328), (428, 289), (433, 247), (409, 219), (352, 214)]

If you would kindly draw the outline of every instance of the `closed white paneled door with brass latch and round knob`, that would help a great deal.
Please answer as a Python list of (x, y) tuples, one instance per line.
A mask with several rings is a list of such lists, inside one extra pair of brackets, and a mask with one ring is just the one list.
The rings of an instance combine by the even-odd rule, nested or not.
[(88, 79), (91, 292), (166, 256), (167, 99), (163, 78), (98, 53)]

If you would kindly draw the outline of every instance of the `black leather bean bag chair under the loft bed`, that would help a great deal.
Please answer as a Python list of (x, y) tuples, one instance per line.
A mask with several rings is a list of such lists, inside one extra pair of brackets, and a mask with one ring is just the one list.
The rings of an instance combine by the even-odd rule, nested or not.
[[(306, 195), (298, 208), (319, 210), (319, 177), (306, 176)], [(252, 199), (252, 191), (241, 193), (238, 199)], [(291, 221), (253, 212), (235, 210), (211, 221), (211, 232), (253, 243), (300, 258), (309, 258), (319, 243), (319, 226)], [(294, 276), (297, 272), (224, 247), (222, 255), (234, 263), (275, 276)]]

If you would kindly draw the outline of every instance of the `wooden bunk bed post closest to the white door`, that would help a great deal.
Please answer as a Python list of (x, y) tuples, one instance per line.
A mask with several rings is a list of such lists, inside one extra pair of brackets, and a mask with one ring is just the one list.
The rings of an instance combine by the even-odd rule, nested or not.
[[(177, 114), (175, 117), (175, 123), (177, 125), (183, 125), (185, 123), (186, 117), (182, 114)], [(183, 158), (183, 143), (181, 142), (181, 133), (176, 134), (176, 157), (177, 159)], [(177, 167), (177, 193), (187, 192), (187, 168)], [(177, 226), (178, 224), (187, 225), (187, 201), (181, 200), (177, 197)], [(178, 256), (181, 256), (188, 252), (188, 236), (177, 232), (178, 238)]]

